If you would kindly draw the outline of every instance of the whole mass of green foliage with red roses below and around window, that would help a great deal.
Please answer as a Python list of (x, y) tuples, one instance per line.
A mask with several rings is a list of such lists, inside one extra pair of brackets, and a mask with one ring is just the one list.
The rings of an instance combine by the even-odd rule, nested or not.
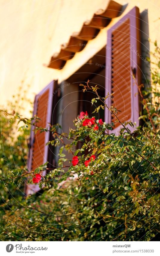
[[(156, 46), (155, 56), (159, 56)], [(156, 60), (156, 58), (155, 58)], [(156, 62), (157, 63), (157, 62)], [(159, 68), (159, 62), (157, 63)], [(156, 71), (155, 71), (156, 70)], [(116, 136), (112, 133), (113, 123), (106, 124), (92, 119), (90, 125), (83, 126), (87, 118), (77, 117), (74, 120), (75, 129), (70, 129), (68, 139), (71, 144), (65, 145), (64, 134), (58, 134), (59, 125), (51, 129), (53, 141), (48, 142), (59, 150), (59, 166), (48, 170), (42, 176), (39, 186), (42, 193), (28, 197), (22, 190), (17, 190), (17, 184), (24, 182), (20, 177), (26, 177), (26, 167), (23, 155), (26, 156), (26, 132), (20, 131), (21, 139), (17, 137), (12, 149), (14, 158), (9, 158), (13, 179), (6, 179), (8, 169), (2, 157), (1, 191), (5, 189), (2, 198), (1, 212), (6, 216), (1, 218), (1, 239), (17, 241), (150, 241), (159, 237), (159, 121), (158, 86), (160, 85), (158, 69), (152, 72), (152, 90), (146, 91), (140, 86), (143, 104), (143, 126), (131, 133), (131, 122), (121, 123), (122, 129)], [(138, 86), (138, 85), (137, 85)], [(100, 108), (107, 108), (113, 115), (117, 110), (105, 104), (106, 98), (98, 95), (98, 87), (83, 87), (84, 92), (95, 92), (94, 101), (99, 101)], [(154, 106), (150, 100), (154, 101)], [(21, 120), (28, 125), (31, 120), (22, 119), (14, 113), (14, 117), (2, 116), (3, 140), (7, 141), (8, 121), (12, 125)], [(13, 122), (13, 123), (12, 123)], [(89, 122), (85, 122), (89, 124)], [(5, 128), (5, 125), (7, 128)], [(94, 127), (98, 126), (98, 129)], [(2, 128), (1, 128), (2, 129)], [(36, 128), (36, 130), (42, 128)], [(108, 131), (111, 131), (110, 133)], [(20, 136), (20, 135), (18, 135)], [(18, 144), (20, 143), (20, 144)], [(76, 146), (81, 147), (75, 150)], [(23, 149), (20, 153), (18, 145)], [(2, 149), (1, 149), (2, 151)], [(6, 155), (10, 152), (10, 142), (5, 144)], [(66, 151), (71, 155), (66, 157)], [(2, 151), (3, 152), (3, 151)], [(96, 158), (91, 157), (95, 155)], [(19, 159), (20, 156), (20, 159)], [(74, 164), (72, 164), (73, 156)], [(88, 166), (84, 163), (89, 160)], [(66, 163), (70, 162), (68, 166)], [(75, 161), (76, 160), (76, 161)], [(14, 169), (14, 162), (20, 169)], [(13, 169), (12, 169), (13, 168)], [(46, 165), (35, 170), (40, 173), (47, 169)], [(17, 174), (18, 173), (18, 174)], [(29, 176), (30, 175), (30, 176)], [(32, 183), (32, 176), (29, 174)], [(9, 191), (9, 192), (8, 192)], [(9, 193), (12, 193), (9, 197)], [(8, 221), (11, 221), (11, 223)], [(17, 225), (17, 226), (16, 226)]]

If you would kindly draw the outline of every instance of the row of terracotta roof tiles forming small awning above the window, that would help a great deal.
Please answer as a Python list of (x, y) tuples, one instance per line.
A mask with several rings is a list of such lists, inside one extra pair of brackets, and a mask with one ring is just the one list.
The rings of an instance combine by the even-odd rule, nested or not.
[(105, 10), (98, 10), (91, 20), (84, 22), (81, 30), (71, 35), (68, 43), (61, 46), (61, 51), (55, 53), (48, 65), (49, 68), (63, 68), (68, 59), (74, 57), (76, 52), (80, 52), (89, 40), (94, 39), (101, 29), (107, 27), (112, 18), (119, 16), (122, 5), (117, 2), (109, 1)]

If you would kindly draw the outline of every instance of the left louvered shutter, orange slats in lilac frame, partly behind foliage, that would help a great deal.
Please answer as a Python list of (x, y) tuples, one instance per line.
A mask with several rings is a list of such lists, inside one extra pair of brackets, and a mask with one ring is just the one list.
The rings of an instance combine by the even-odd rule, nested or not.
[[(50, 125), (53, 124), (53, 106), (55, 104), (57, 81), (52, 81), (47, 87), (45, 87), (40, 93), (35, 96), (33, 117), (37, 116), (41, 120), (39, 122), (34, 119), (32, 121), (30, 143), (29, 143), (29, 158), (27, 167), (30, 172), (34, 171), (38, 166), (44, 164), (49, 159), (49, 146), (46, 143), (50, 140), (50, 132), (37, 131), (35, 134), (35, 125), (50, 130)], [(55, 94), (55, 95), (54, 95)], [(43, 172), (45, 175), (46, 172)], [(40, 190), (37, 184), (28, 184), (26, 186), (26, 194), (33, 194)]]

